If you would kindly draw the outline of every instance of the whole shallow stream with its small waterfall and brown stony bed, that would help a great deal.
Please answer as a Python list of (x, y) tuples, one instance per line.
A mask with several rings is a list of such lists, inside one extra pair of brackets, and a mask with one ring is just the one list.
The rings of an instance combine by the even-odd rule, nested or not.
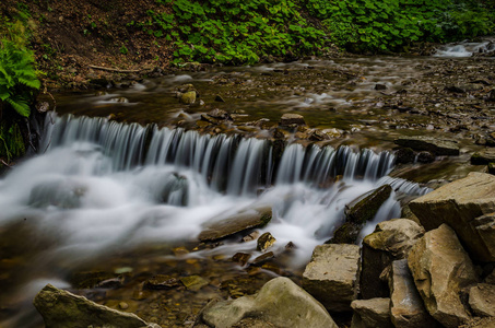
[[(356, 197), (393, 188), (362, 238), (400, 218), (399, 199), (431, 191), (425, 183), (483, 169), (469, 156), (495, 130), (495, 104), (486, 101), (495, 61), (472, 55), (493, 50), (484, 40), (431, 57), (214, 67), (56, 95), (43, 151), (0, 179), (0, 326), (43, 327), (32, 300), (47, 283), (184, 327), (215, 295), (250, 294), (276, 276), (298, 281)], [(185, 83), (204, 105), (179, 104), (174, 94)], [(214, 108), (233, 120), (203, 131), (197, 121)], [(308, 142), (306, 130), (284, 131), (278, 150), (271, 133), (284, 113), (332, 138)], [(394, 165), (393, 140), (416, 134), (453, 139), (461, 155)], [(262, 253), (256, 239), (240, 243), (244, 235), (198, 242), (204, 224), (260, 206), (273, 213), (258, 229), (276, 238), (271, 261), (252, 265)], [(235, 263), (236, 253), (251, 258)], [(200, 276), (208, 284), (143, 289), (156, 274)], [(118, 288), (97, 285), (111, 279)]]

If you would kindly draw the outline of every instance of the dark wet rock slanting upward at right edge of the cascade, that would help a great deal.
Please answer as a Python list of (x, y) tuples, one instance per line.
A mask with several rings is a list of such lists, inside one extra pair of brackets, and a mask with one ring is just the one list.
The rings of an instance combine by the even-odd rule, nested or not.
[(331, 244), (353, 244), (360, 235), (361, 229), (367, 221), (372, 221), (381, 204), (390, 197), (392, 187), (384, 185), (366, 192), (345, 206), (345, 223), (335, 230)]

